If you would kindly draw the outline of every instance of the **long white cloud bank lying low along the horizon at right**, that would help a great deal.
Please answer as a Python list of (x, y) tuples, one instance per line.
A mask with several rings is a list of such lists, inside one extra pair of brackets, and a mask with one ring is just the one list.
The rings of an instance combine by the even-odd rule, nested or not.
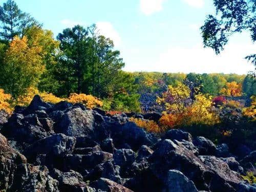
[[(254, 66), (244, 59), (252, 54), (256, 45), (228, 44), (220, 55), (202, 45), (191, 48), (170, 47), (161, 53), (157, 61), (146, 63), (127, 62), (127, 71), (159, 71), (169, 73), (237, 73), (246, 74)], [(139, 64), (139, 65), (138, 65)]]

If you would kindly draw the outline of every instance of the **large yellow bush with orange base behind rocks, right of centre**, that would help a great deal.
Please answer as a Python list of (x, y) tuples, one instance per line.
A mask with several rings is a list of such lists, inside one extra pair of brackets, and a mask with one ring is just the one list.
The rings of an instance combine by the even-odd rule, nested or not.
[(168, 87), (162, 98), (157, 98), (158, 103), (164, 103), (166, 112), (160, 119), (163, 126), (173, 128), (179, 125), (207, 124), (219, 122), (219, 117), (212, 111), (212, 98), (199, 93), (194, 102), (188, 103), (190, 90), (179, 84), (177, 88)]

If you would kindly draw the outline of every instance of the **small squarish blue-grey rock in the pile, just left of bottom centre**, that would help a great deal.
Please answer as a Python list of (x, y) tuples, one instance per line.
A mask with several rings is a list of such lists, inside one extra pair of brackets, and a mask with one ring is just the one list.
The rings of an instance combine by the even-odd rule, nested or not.
[(116, 150), (113, 154), (115, 164), (119, 166), (129, 165), (135, 161), (135, 153), (133, 150)]

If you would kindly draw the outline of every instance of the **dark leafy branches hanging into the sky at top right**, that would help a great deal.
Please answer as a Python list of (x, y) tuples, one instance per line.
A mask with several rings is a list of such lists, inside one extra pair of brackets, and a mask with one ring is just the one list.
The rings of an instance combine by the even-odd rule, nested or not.
[[(216, 15), (208, 15), (201, 27), (205, 47), (219, 54), (228, 42), (228, 38), (243, 31), (256, 40), (256, 1), (255, 0), (213, 0)], [(256, 54), (246, 57), (256, 68)]]

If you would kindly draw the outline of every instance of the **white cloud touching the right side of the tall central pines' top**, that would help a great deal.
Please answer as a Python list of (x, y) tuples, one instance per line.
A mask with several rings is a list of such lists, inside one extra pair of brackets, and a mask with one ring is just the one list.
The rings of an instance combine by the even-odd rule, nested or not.
[(99, 29), (99, 33), (101, 35), (104, 35), (105, 37), (113, 40), (115, 46), (120, 46), (122, 41), (121, 37), (110, 22), (97, 22), (96, 26)]

